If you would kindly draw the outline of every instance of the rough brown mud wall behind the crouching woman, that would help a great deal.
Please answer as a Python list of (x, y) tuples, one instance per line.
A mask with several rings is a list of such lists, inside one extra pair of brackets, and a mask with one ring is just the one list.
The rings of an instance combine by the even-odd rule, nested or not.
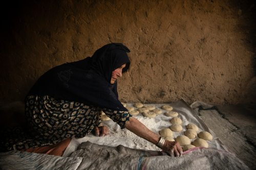
[[(2, 101), (53, 66), (122, 42), (123, 102), (255, 103), (253, 1), (21, 1), (2, 7)], [(254, 67), (254, 68), (253, 68)]]

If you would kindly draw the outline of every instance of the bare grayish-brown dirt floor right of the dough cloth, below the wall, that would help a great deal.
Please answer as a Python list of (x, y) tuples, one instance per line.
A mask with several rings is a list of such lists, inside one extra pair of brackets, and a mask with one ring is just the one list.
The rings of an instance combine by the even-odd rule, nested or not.
[(210, 115), (201, 110), (199, 115), (221, 139), (228, 151), (234, 153), (251, 169), (255, 169), (256, 105), (217, 106), (217, 110)]

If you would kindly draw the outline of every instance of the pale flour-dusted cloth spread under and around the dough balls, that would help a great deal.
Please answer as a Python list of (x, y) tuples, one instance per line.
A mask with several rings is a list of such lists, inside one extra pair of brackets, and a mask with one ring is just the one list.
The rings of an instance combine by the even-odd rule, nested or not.
[[(166, 116), (164, 113), (166, 110), (162, 109), (162, 106), (166, 104), (147, 104), (156, 107), (162, 111), (161, 114), (156, 115), (155, 118), (144, 117), (141, 113), (134, 116), (137, 118), (142, 124), (144, 124), (148, 129), (153, 132), (159, 134), (159, 131), (164, 128), (169, 128), (172, 123), (169, 122), (173, 117)], [(180, 124), (183, 128), (181, 132), (173, 131), (173, 138), (177, 136), (184, 135), (184, 131), (187, 129), (186, 125), (189, 123), (193, 123), (197, 125), (199, 128), (198, 131), (207, 131), (210, 132), (213, 136), (211, 141), (207, 141), (209, 144), (209, 148), (218, 149), (218, 150), (226, 150), (221, 141), (216, 137), (216, 135), (205, 125), (203, 120), (191, 109), (183, 100), (177, 101), (175, 103), (168, 104), (173, 108), (173, 111), (179, 113), (179, 117), (182, 120), (182, 124)], [(132, 107), (133, 104), (126, 104), (126, 107)], [(135, 108), (136, 109), (136, 108)], [(139, 108), (141, 109), (141, 108)], [(118, 145), (123, 145), (124, 147), (133, 148), (133, 149), (143, 149), (143, 150), (152, 150), (152, 151), (160, 151), (160, 149), (151, 142), (138, 137), (134, 133), (130, 132), (127, 129), (120, 129), (120, 127), (114, 123), (112, 120), (108, 122), (103, 122), (103, 125), (107, 126), (110, 129), (110, 135), (104, 137), (96, 137), (92, 134), (80, 139), (72, 139), (69, 147), (66, 149), (63, 156), (70, 155), (73, 151), (76, 150), (78, 145), (85, 141), (90, 141), (92, 143), (101, 144), (101, 145), (109, 145), (110, 147), (117, 147)], [(193, 142), (196, 138), (190, 139)]]

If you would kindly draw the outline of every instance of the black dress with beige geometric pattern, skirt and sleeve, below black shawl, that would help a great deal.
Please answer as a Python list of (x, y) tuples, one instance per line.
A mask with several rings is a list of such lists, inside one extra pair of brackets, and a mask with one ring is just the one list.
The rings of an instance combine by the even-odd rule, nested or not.
[(132, 117), (126, 111), (55, 100), (49, 95), (27, 96), (25, 103), (27, 130), (19, 128), (6, 130), (5, 139), (1, 141), (4, 148), (1, 147), (1, 150), (22, 150), (56, 144), (70, 137), (82, 138), (100, 125), (101, 111), (120, 125), (121, 129)]

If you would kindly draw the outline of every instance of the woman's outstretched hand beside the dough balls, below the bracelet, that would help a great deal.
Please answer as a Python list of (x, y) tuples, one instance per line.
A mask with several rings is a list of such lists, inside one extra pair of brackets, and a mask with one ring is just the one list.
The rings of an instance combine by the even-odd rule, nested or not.
[(165, 140), (162, 150), (166, 153), (168, 153), (170, 156), (181, 156), (182, 155), (182, 148), (180, 147), (180, 144), (175, 141), (168, 141)]

